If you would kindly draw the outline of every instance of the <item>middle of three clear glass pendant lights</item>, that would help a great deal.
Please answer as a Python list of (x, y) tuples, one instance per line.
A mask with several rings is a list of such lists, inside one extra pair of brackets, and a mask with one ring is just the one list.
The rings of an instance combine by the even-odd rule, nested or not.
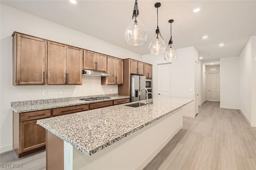
[(157, 28), (156, 28), (156, 34), (148, 47), (150, 54), (155, 54), (155, 55), (164, 53), (164, 50), (166, 48), (166, 45), (164, 43), (164, 40), (161, 36), (160, 30), (158, 27), (158, 8), (160, 6), (161, 6), (161, 3), (159, 2), (155, 4), (155, 7), (157, 8)]

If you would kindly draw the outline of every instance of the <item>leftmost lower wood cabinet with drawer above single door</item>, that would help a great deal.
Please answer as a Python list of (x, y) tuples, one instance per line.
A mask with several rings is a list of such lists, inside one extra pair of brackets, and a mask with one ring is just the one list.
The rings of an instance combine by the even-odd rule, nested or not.
[(13, 112), (13, 150), (18, 158), (45, 148), (46, 129), (37, 125), (36, 121), (50, 116), (50, 110)]

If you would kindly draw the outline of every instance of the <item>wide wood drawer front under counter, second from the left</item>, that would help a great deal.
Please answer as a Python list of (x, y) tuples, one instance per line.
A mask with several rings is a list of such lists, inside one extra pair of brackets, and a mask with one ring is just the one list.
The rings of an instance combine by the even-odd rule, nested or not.
[(75, 113), (81, 111), (89, 110), (89, 105), (77, 105), (77, 106), (70, 106), (70, 107), (62, 107), (58, 109), (53, 109), (53, 116), (64, 115), (68, 113)]

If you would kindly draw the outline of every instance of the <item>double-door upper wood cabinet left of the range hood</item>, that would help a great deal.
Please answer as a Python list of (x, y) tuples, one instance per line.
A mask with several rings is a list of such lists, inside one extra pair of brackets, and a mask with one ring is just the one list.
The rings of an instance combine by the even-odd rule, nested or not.
[(82, 84), (82, 49), (48, 42), (48, 85)]

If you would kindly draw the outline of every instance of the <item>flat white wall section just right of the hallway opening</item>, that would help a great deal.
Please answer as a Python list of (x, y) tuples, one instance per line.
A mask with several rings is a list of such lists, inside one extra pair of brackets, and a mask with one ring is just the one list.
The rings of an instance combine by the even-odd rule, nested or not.
[(240, 109), (240, 58), (220, 58), (220, 108)]

